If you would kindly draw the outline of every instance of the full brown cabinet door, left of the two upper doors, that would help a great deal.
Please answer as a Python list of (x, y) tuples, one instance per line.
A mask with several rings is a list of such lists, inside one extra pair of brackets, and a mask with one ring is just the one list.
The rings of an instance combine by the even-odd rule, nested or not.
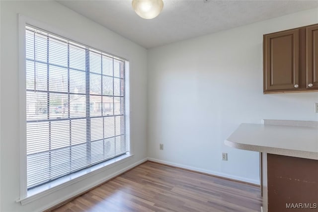
[(264, 35), (264, 92), (299, 84), (299, 29)]

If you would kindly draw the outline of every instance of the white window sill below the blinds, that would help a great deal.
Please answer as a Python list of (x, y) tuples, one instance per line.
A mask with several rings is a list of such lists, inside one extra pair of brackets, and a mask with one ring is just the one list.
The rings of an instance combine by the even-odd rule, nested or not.
[(70, 186), (74, 183), (77, 183), (85, 178), (88, 178), (92, 175), (98, 174), (99, 172), (107, 170), (113, 166), (120, 164), (120, 163), (128, 161), (128, 160), (132, 159), (133, 156), (134, 156), (133, 154), (130, 154), (128, 152), (124, 155), (107, 160), (103, 163), (94, 165), (94, 166), (89, 167), (87, 169), (84, 169), (84, 170), (81, 170), (79, 172), (62, 177), (60, 179), (54, 180), (50, 183), (44, 184), (44, 185), (36, 187), (34, 189), (30, 189), (27, 192), (27, 196), (25, 198), (19, 199), (16, 202), (20, 202), (21, 205), (26, 205), (28, 203), (35, 201), (35, 200), (38, 200), (39, 198), (41, 198), (45, 195), (51, 194), (51, 193), (58, 191), (62, 188), (65, 188), (65, 187)]

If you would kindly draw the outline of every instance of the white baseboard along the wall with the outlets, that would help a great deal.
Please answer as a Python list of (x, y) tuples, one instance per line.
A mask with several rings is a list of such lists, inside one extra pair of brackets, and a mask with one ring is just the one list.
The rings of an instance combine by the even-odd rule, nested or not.
[(166, 165), (179, 167), (179, 168), (189, 169), (192, 171), (198, 171), (198, 172), (202, 172), (202, 173), (206, 173), (206, 174), (212, 174), (212, 175), (216, 175), (216, 176), (220, 176), (220, 177), (225, 177), (225, 178), (230, 178), (230, 179), (234, 179), (234, 180), (238, 180), (238, 181), (242, 181), (242, 182), (252, 183), (255, 185), (260, 185), (258, 180), (254, 180), (254, 179), (250, 179), (250, 178), (244, 178), (244, 177), (239, 177), (236, 175), (225, 174), (222, 172), (215, 172), (215, 171), (211, 171), (211, 170), (207, 170), (207, 169), (196, 168), (193, 166), (183, 165), (183, 164), (179, 164), (179, 163), (173, 163), (173, 162), (169, 162), (169, 161), (165, 161), (165, 160), (159, 160), (159, 159), (152, 158), (152, 157), (148, 157), (148, 160), (153, 161), (153, 162), (166, 164)]

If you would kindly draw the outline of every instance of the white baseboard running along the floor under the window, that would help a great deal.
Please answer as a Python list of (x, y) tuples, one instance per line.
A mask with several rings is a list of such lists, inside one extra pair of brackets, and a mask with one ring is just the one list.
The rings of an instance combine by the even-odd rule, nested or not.
[(43, 212), (43, 211), (46, 211), (46, 210), (48, 210), (48, 209), (50, 209), (50, 208), (52, 208), (54, 206), (57, 206), (58, 204), (66, 201), (66, 200), (68, 200), (70, 198), (73, 198), (73, 197), (79, 195), (80, 193), (83, 193), (83, 192), (93, 188), (94, 186), (97, 186), (97, 185), (99, 185), (99, 184), (101, 184), (103, 182), (106, 182), (107, 180), (110, 180), (111, 178), (113, 178), (113, 177), (115, 177), (117, 175), (120, 175), (120, 174), (124, 173), (125, 171), (127, 171), (129, 169), (132, 169), (135, 166), (138, 166), (139, 164), (142, 164), (142, 163), (146, 162), (147, 160), (148, 160), (147, 158), (139, 160), (139, 161), (131, 164), (130, 166), (127, 166), (127, 167), (125, 167), (125, 168), (123, 168), (123, 169), (121, 169), (119, 171), (116, 171), (116, 172), (114, 172), (114, 173), (112, 173), (110, 175), (107, 175), (107, 176), (101, 178), (98, 181), (95, 181), (95, 182), (93, 182), (93, 183), (91, 183), (89, 185), (86, 185), (85, 187), (82, 187), (82, 188), (78, 189), (77, 191), (72, 192), (72, 193), (68, 194), (67, 196), (64, 196), (64, 197), (62, 197), (62, 198), (50, 203), (49, 205), (46, 205), (46, 206), (42, 207), (41, 209), (39, 209), (39, 212)]

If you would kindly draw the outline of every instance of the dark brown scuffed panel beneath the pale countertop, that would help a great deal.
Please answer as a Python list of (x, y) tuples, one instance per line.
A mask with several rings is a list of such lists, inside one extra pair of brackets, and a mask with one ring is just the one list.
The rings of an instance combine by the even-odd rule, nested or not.
[(268, 212), (318, 212), (318, 160), (267, 154)]

